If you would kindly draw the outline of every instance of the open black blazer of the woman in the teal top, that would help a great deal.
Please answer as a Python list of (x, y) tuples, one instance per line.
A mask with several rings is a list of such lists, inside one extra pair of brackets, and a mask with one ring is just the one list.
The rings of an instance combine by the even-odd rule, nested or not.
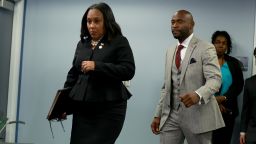
[(227, 101), (223, 105), (232, 111), (232, 116), (235, 118), (238, 115), (237, 97), (243, 90), (244, 78), (240, 61), (229, 55), (225, 55), (224, 59), (232, 75), (232, 84), (228, 91), (223, 94), (227, 97)]

